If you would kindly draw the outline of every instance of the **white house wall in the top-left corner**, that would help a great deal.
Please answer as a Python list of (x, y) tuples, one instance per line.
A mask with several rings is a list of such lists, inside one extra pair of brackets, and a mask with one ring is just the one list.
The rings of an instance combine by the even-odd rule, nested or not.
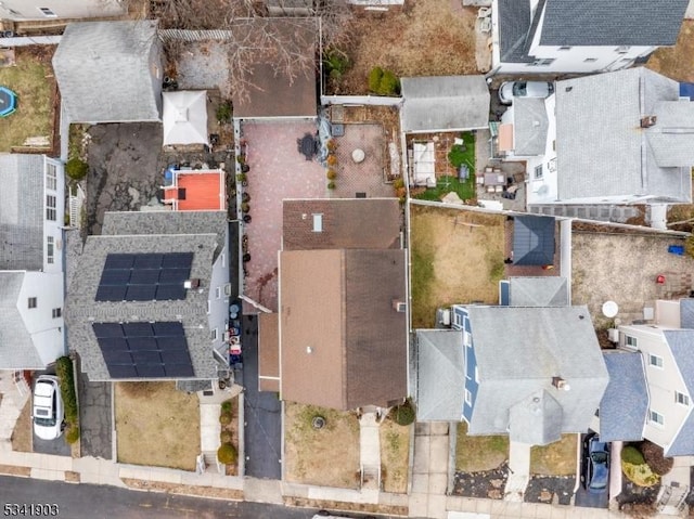
[[(41, 8), (48, 11), (41, 11)], [(125, 3), (117, 0), (2, 0), (0, 2), (0, 18), (14, 22), (118, 16), (125, 12)]]

